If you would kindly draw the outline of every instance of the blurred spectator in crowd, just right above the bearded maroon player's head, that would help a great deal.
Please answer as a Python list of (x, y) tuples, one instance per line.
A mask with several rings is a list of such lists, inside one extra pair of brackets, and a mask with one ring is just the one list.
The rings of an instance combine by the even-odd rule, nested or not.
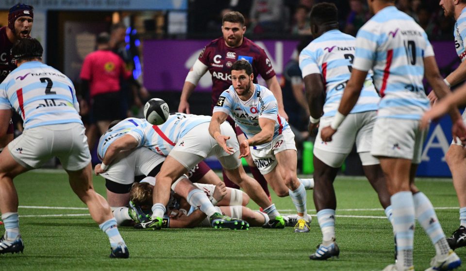
[(288, 27), (289, 10), (283, 0), (253, 0), (249, 17), (253, 33), (277, 33)]

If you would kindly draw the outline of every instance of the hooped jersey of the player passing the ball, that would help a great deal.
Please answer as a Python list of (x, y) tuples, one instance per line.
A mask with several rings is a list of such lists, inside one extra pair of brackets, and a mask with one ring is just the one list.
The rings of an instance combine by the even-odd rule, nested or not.
[[(254, 86), (254, 93), (248, 101), (242, 101), (233, 86), (230, 86), (218, 97), (213, 112), (229, 114), (248, 138), (262, 131), (259, 126), (259, 118), (275, 120), (273, 133), (273, 138), (275, 138), (281, 135), (284, 129), (289, 128), (289, 124), (278, 114), (277, 99), (273, 96), (272, 91), (259, 84), (254, 84)], [(265, 143), (254, 147), (262, 149), (269, 145), (269, 143)]]

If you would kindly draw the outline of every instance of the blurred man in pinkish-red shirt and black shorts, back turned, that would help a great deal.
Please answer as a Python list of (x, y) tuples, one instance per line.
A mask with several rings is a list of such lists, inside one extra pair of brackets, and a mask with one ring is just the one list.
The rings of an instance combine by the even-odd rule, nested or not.
[(109, 42), (107, 32), (99, 34), (97, 50), (85, 57), (80, 74), (83, 91), (88, 93), (91, 104), (91, 126), (86, 130), (90, 150), (94, 148), (97, 133), (103, 134), (111, 121), (125, 117), (119, 106), (120, 78), (128, 79), (131, 73), (126, 71), (123, 60), (111, 51)]

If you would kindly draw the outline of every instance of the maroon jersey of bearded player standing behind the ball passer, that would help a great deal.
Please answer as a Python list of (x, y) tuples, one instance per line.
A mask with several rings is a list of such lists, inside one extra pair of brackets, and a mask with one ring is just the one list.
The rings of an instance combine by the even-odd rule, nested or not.
[(199, 60), (204, 63), (212, 75), (212, 109), (223, 90), (232, 85), (231, 67), (236, 60), (248, 60), (252, 65), (254, 83), (257, 83), (257, 75), (265, 80), (275, 75), (272, 63), (268, 59), (264, 49), (243, 37), (243, 44), (239, 47), (228, 47), (223, 37), (210, 42), (199, 55)]

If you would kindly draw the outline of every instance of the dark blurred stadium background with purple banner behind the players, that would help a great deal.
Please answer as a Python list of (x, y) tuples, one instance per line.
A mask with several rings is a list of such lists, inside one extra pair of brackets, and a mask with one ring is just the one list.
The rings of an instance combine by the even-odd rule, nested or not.
[[(0, 1), (0, 25), (7, 24), (8, 9), (17, 0)], [(150, 91), (164, 99), (172, 112), (178, 108), (184, 78), (200, 50), (221, 36), (221, 13), (237, 10), (247, 19), (246, 37), (261, 45), (272, 61), (279, 81), (283, 68), (293, 56), (296, 45), (307, 31), (296, 31), (295, 14), (304, 5), (319, 0), (273, 1), (280, 9), (273, 30), (251, 19), (251, 9), (266, 9), (266, 0), (23, 0), (34, 6), (32, 36), (44, 46), (44, 62), (69, 76), (80, 91), (79, 72), (84, 57), (94, 51), (101, 31), (112, 23), (123, 22), (127, 29), (127, 49), (133, 53), (133, 76)], [(254, 6), (257, 2), (257, 6)], [(331, 1), (332, 2), (332, 1)], [(333, 0), (339, 9), (340, 30), (355, 34), (370, 18), (364, 0)], [(459, 64), (453, 41), (454, 20), (445, 18), (438, 0), (399, 0), (400, 10), (413, 16), (429, 35), (442, 74)], [(253, 7), (254, 6), (254, 7)], [(260, 81), (261, 82), (261, 81)], [(263, 81), (262, 81), (263, 82)], [(190, 98), (191, 112), (210, 114), (210, 74), (205, 75)], [(426, 89), (430, 90), (426, 85)], [(133, 108), (138, 113), (139, 108)], [(285, 108), (286, 110), (286, 108)], [(313, 141), (313, 138), (308, 138)], [(451, 141), (450, 122), (444, 118), (431, 125), (418, 176), (451, 176), (445, 153)], [(306, 146), (309, 146), (307, 144)], [(309, 164), (309, 148), (300, 157), (299, 167)], [(307, 153), (309, 154), (309, 153)], [(304, 161), (302, 161), (304, 158)], [(307, 159), (307, 160), (306, 160)], [(95, 161), (96, 162), (96, 161)], [(211, 166), (218, 166), (215, 161)], [(51, 161), (49, 166), (56, 166)], [(308, 170), (308, 169), (307, 169)], [(306, 171), (306, 170), (304, 170)], [(305, 172), (310, 173), (310, 172)], [(362, 175), (359, 158), (350, 154), (343, 172)]]

